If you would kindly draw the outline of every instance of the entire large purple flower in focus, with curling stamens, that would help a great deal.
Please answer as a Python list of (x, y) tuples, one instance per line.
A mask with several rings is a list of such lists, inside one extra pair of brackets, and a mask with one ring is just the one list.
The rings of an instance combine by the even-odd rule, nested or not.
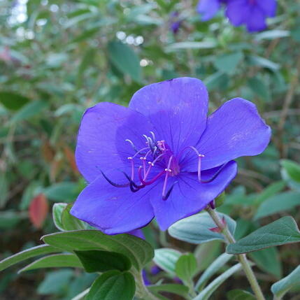
[(129, 108), (103, 102), (88, 109), (76, 162), (90, 184), (71, 213), (120, 234), (153, 217), (165, 230), (205, 208), (236, 176), (233, 159), (258, 155), (271, 135), (244, 99), (207, 112), (208, 93), (196, 78), (143, 87)]

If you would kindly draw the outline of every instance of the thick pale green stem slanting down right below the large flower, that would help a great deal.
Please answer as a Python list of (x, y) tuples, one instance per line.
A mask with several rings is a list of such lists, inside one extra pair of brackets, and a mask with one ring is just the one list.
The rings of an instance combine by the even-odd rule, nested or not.
[[(219, 215), (213, 210), (209, 205), (206, 207), (207, 212), (209, 213), (210, 217), (213, 219), (217, 227), (219, 227), (221, 233), (227, 240), (227, 243), (236, 243), (234, 236), (232, 236), (231, 232), (229, 231), (226, 224), (222, 222)], [(251, 266), (248, 262), (248, 259), (245, 254), (236, 255), (238, 257), (239, 262), (243, 266), (243, 270), (245, 271), (245, 275), (248, 278), (248, 281), (252, 287), (253, 292), (257, 300), (265, 300), (264, 294), (262, 294), (262, 290), (259, 287), (257, 279), (251, 269)]]

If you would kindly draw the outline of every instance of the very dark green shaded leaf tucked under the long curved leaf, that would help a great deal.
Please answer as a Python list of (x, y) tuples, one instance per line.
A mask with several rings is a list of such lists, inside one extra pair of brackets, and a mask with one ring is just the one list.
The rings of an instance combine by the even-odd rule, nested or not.
[(129, 258), (117, 252), (100, 250), (74, 251), (88, 273), (110, 270), (128, 271), (131, 268)]

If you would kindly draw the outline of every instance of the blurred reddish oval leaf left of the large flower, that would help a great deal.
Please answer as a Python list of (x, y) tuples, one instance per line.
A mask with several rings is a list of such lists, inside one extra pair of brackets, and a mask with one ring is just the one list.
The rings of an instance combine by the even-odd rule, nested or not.
[(29, 206), (29, 218), (34, 227), (41, 228), (48, 214), (48, 200), (44, 194), (38, 194)]

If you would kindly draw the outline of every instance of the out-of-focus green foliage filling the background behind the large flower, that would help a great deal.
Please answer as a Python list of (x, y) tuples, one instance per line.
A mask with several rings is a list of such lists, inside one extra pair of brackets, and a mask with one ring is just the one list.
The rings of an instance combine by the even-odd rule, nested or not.
[[(238, 220), (236, 237), (278, 215), (300, 221), (300, 2), (279, 1), (268, 30), (258, 34), (232, 27), (223, 13), (200, 22), (196, 6), (192, 0), (0, 0), (3, 257), (57, 231), (53, 203), (73, 202), (85, 186), (73, 155), (84, 110), (99, 101), (127, 105), (143, 85), (180, 76), (206, 83), (210, 112), (243, 97), (256, 103), (273, 129), (262, 155), (238, 159), (238, 176), (220, 206)], [(194, 250), (159, 234), (155, 224), (145, 235), (156, 247)], [(197, 247), (202, 269), (220, 247)], [(300, 249), (271, 248), (251, 259), (268, 290), (300, 263)], [(71, 269), (22, 277), (9, 269), (0, 275), (1, 299), (71, 299), (92, 280)], [(236, 280), (213, 299), (248, 286), (243, 276)]]

